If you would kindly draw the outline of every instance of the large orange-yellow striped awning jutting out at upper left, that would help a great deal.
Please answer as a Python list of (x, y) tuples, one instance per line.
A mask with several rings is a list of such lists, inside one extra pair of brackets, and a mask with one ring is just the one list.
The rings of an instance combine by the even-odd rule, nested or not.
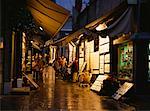
[(68, 20), (69, 11), (50, 0), (28, 0), (27, 7), (37, 24), (54, 37)]

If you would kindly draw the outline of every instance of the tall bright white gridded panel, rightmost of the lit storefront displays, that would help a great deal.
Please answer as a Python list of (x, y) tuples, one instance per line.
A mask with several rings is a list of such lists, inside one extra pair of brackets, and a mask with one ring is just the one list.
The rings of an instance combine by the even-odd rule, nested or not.
[(99, 72), (100, 74), (109, 74), (110, 73), (110, 42), (109, 37), (101, 38), (99, 36)]

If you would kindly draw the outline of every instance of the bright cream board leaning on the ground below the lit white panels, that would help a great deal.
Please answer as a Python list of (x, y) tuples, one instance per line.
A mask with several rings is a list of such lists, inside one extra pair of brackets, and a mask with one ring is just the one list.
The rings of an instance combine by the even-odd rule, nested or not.
[(103, 85), (103, 80), (105, 80), (107, 78), (108, 78), (107, 75), (99, 75), (90, 89), (99, 92)]

